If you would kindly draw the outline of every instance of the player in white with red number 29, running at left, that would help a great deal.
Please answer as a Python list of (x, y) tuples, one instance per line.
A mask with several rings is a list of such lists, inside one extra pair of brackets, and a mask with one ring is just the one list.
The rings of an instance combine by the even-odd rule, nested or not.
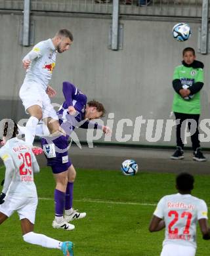
[(16, 124), (6, 122), (1, 129), (6, 144), (0, 149), (0, 157), (6, 171), (5, 183), (0, 194), (0, 224), (17, 211), (25, 242), (60, 249), (65, 256), (73, 255), (72, 242), (60, 242), (33, 232), (38, 201), (33, 173), (39, 172), (39, 165), (31, 147), (23, 140), (16, 138), (18, 134)]

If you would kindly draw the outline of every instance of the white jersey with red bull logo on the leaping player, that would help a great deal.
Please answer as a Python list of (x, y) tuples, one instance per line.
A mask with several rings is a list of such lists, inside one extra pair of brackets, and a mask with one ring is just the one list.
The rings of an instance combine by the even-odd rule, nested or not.
[(35, 81), (46, 89), (56, 62), (57, 51), (53, 41), (51, 39), (41, 41), (33, 47), (31, 52), (36, 53), (37, 58), (31, 60), (30, 68), (26, 70), (24, 83)]

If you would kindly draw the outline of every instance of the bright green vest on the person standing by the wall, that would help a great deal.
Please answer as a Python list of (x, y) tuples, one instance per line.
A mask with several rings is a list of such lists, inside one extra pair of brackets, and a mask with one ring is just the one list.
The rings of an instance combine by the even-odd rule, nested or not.
[[(188, 68), (184, 65), (177, 66), (173, 74), (174, 79), (180, 79), (182, 85), (188, 85), (189, 87), (196, 82), (203, 83), (203, 69)], [(172, 110), (184, 114), (200, 114), (200, 92), (196, 93), (190, 100), (184, 100), (182, 96), (175, 93)]]

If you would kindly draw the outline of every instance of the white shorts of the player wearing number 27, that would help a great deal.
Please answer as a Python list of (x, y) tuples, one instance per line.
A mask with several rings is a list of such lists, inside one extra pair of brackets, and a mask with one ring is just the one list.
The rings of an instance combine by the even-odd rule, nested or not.
[(196, 248), (192, 246), (166, 244), (163, 245), (160, 256), (195, 256)]

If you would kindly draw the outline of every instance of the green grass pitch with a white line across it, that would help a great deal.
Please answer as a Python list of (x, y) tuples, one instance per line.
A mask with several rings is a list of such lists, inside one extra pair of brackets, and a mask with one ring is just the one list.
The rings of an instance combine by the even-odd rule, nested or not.
[[(0, 169), (3, 179), (4, 168)], [(210, 205), (210, 176), (196, 175), (194, 196)], [(75, 244), (76, 256), (158, 256), (164, 232), (150, 233), (148, 224), (158, 200), (173, 194), (175, 175), (139, 171), (126, 177), (120, 171), (77, 169), (74, 186), (74, 207), (86, 211), (87, 217), (74, 221), (75, 230), (55, 230), (54, 180), (51, 169), (43, 168), (35, 175), (39, 196), (35, 232)], [(24, 196), (24, 195), (23, 195)], [(0, 226), (0, 256), (57, 256), (62, 252), (22, 240), (20, 221), (15, 213)], [(208, 256), (209, 241), (201, 239), (198, 230), (197, 256)]]

